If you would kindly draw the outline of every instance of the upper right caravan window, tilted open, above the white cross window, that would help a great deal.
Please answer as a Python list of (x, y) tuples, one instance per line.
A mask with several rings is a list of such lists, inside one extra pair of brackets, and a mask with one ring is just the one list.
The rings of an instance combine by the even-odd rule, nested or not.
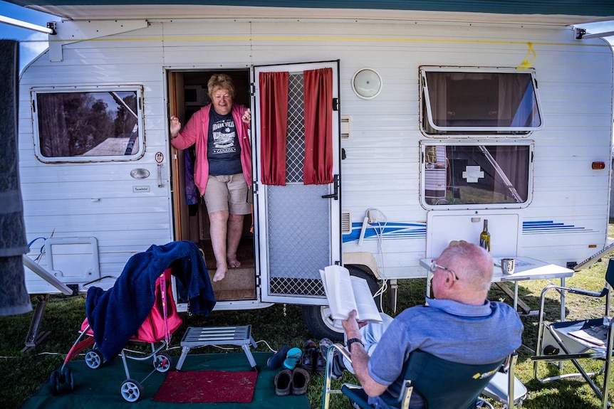
[(529, 134), (542, 126), (534, 73), (422, 68), (425, 134)]

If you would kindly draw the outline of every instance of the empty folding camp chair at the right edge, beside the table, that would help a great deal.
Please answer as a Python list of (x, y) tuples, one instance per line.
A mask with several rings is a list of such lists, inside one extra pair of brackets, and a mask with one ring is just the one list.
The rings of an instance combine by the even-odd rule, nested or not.
[[(605, 270), (605, 286), (600, 292), (586, 291), (577, 288), (561, 287), (548, 285), (541, 292), (541, 303), (539, 307), (539, 324), (537, 333), (536, 356), (532, 359), (535, 378), (540, 382), (554, 381), (557, 379), (569, 378), (571, 376), (582, 376), (593, 388), (593, 391), (601, 399), (602, 408), (608, 408), (608, 394), (610, 388), (610, 372), (612, 370), (612, 352), (614, 344), (613, 320), (610, 318), (610, 287), (614, 287), (614, 258), (610, 258), (608, 269)], [(586, 297), (603, 298), (605, 297), (605, 312), (603, 317), (593, 317), (577, 321), (546, 322), (544, 320), (544, 301), (546, 294), (555, 290), (558, 292), (568, 292)], [(608, 352), (609, 351), (609, 352)], [(592, 359), (604, 361), (603, 366), (593, 373), (588, 373), (580, 365), (579, 359)], [(563, 371), (563, 361), (571, 361), (578, 372), (566, 373)], [(556, 364), (561, 370), (557, 376), (547, 378), (538, 377), (538, 364), (540, 362)], [(586, 361), (585, 361), (586, 362)], [(599, 387), (593, 380), (593, 376), (605, 373), (604, 381)]]

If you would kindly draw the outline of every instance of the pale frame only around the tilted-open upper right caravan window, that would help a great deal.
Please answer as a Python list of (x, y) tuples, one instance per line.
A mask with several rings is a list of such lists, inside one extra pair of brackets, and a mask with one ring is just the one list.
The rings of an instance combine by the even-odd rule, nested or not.
[[(539, 97), (536, 73), (534, 69), (519, 70), (516, 68), (477, 68), (477, 67), (444, 67), (444, 66), (430, 66), (423, 65), (419, 68), (420, 78), (420, 131), (426, 137), (430, 138), (445, 138), (445, 137), (459, 137), (464, 136), (477, 136), (477, 137), (528, 137), (532, 132), (543, 128), (543, 109), (541, 106), (541, 99)], [(540, 124), (537, 127), (441, 127), (436, 125), (433, 121), (432, 107), (430, 104), (430, 95), (427, 81), (427, 73), (523, 73), (531, 75), (531, 83), (533, 84), (534, 98), (536, 100), (536, 110), (539, 117)], [(426, 115), (426, 118), (425, 118)], [(425, 119), (432, 129), (435, 129), (437, 133), (429, 133), (425, 129)], [(452, 132), (447, 134), (446, 132)], [(489, 135), (491, 133), (491, 135)]]

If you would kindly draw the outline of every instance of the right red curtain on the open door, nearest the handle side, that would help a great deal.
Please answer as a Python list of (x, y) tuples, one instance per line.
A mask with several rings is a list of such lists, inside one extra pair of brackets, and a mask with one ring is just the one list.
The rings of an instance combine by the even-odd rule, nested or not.
[(305, 164), (303, 184), (333, 183), (333, 69), (303, 72)]

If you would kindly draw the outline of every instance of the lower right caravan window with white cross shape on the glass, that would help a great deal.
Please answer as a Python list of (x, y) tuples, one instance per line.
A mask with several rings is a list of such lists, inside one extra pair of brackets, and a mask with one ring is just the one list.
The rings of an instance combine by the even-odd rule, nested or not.
[(427, 208), (523, 207), (530, 201), (532, 144), (422, 144)]

